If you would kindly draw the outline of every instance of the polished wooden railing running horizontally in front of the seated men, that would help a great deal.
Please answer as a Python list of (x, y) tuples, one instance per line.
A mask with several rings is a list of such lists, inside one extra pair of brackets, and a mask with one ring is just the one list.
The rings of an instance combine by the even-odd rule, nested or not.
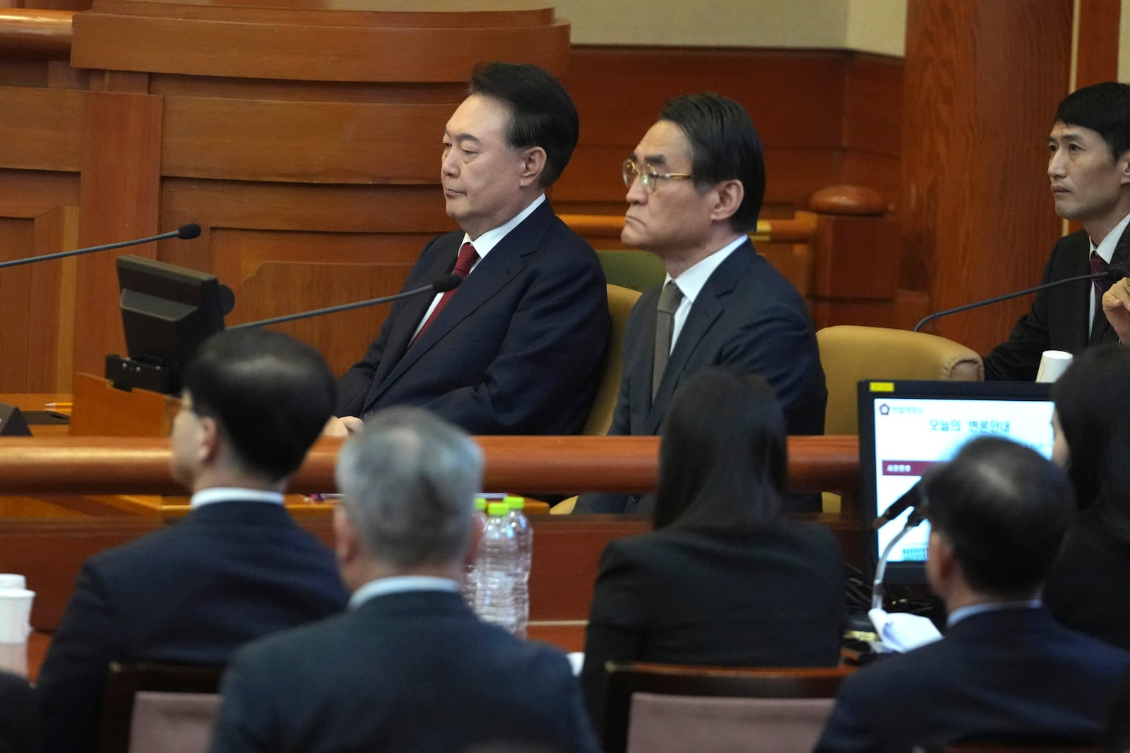
[[(659, 472), (658, 437), (477, 437), (486, 491), (647, 491)], [(296, 474), (297, 492), (336, 489), (340, 439), (320, 439)], [(183, 494), (169, 473), (168, 439), (0, 438), (0, 494)], [(857, 437), (790, 437), (796, 489), (854, 496)]]

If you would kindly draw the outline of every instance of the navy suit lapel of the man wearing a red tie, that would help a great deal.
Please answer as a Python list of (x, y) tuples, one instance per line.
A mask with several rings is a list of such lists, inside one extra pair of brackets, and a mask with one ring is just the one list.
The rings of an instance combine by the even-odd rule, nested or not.
[[(419, 324), (420, 318), (424, 316), (424, 310), (426, 310), (431, 299), (427, 297), (424, 298), (425, 303), (415, 318), (409, 317), (406, 313), (403, 318), (411, 318), (411, 322), (408, 324), (398, 322), (397, 338), (390, 338), (390, 343), (395, 342), (401, 356), (395, 360), (395, 365), (390, 368), (384, 378), (381, 378), (381, 375), (376, 375), (374, 384), (380, 386), (370, 394), (368, 402), (376, 400), (389, 385), (399, 379), (425, 353), (441, 343), (460, 322), (471, 316), (476, 309), (486, 304), (521, 271), (524, 265), (522, 256), (538, 249), (549, 220), (553, 217), (553, 209), (549, 205), (549, 201), (546, 200), (521, 225), (499, 240), (498, 245), (490, 249), (486, 259), (479, 262), (478, 266), (471, 271), (467, 281), (457, 288), (455, 295), (451, 297), (447, 305), (443, 307), (443, 310), (428, 325), (427, 330), (420, 334), (419, 339), (415, 343), (411, 343), (410, 348), (408, 344), (412, 332), (415, 332), (416, 325)], [(444, 253), (441, 255), (445, 261), (444, 264), (437, 263), (437, 266), (441, 269), (435, 271), (435, 277), (450, 272), (454, 268), (455, 256), (459, 253), (458, 246), (459, 243), (451, 248), (450, 254)], [(391, 359), (389, 360), (391, 361)]]

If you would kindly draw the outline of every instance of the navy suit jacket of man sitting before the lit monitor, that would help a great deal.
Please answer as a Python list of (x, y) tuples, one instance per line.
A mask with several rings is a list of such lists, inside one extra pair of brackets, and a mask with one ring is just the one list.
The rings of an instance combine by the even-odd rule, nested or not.
[(1044, 610), (974, 614), (944, 639), (847, 677), (816, 751), (1092, 738), (1128, 664), (1125, 651), (1068, 630)]

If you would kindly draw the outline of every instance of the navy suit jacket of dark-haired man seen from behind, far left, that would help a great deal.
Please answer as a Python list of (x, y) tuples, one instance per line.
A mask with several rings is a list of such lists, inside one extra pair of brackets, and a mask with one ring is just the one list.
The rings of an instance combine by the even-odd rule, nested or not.
[(217, 502), (84, 564), (37, 683), (45, 751), (93, 751), (111, 660), (221, 665), (344, 608), (333, 552), (281, 506)]

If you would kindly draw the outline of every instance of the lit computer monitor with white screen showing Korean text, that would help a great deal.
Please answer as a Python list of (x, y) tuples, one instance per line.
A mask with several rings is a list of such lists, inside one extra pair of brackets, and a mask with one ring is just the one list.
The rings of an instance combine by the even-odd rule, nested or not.
[[(1050, 391), (1050, 384), (1028, 382), (860, 382), (860, 510), (868, 531), (931, 465), (950, 459), (971, 439), (1006, 437), (1051, 457)], [(871, 572), (909, 515), (864, 536)], [(924, 584), (929, 537), (929, 523), (906, 534), (890, 552), (884, 580)]]

